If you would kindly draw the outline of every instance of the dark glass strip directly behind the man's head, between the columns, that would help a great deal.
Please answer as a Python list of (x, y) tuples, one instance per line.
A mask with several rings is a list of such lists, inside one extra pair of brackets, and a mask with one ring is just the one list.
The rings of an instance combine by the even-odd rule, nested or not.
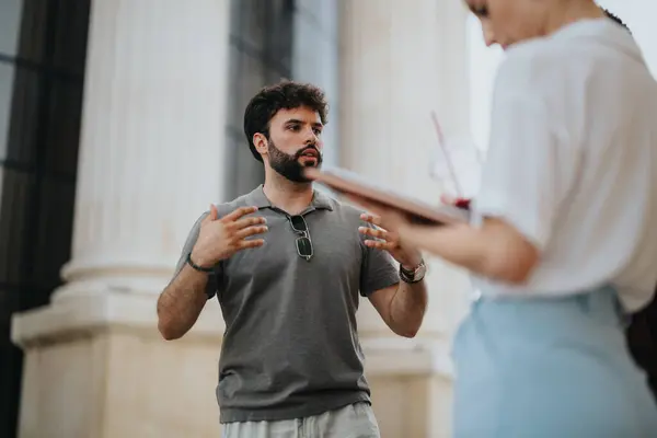
[(263, 165), (249, 149), (242, 117), (261, 88), (291, 79), (293, 15), (293, 0), (231, 0), (228, 198), (251, 192), (264, 180)]

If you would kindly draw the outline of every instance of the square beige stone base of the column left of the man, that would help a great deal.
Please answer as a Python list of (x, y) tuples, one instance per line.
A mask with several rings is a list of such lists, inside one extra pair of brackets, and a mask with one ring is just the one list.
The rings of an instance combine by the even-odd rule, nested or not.
[(155, 297), (74, 297), (15, 314), (24, 350), (20, 437), (217, 437), (223, 323), (216, 301), (163, 341)]

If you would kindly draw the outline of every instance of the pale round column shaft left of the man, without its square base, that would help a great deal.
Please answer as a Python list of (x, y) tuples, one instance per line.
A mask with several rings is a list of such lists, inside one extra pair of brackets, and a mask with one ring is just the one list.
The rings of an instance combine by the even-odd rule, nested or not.
[(228, 0), (95, 1), (67, 296), (153, 293), (222, 194)]

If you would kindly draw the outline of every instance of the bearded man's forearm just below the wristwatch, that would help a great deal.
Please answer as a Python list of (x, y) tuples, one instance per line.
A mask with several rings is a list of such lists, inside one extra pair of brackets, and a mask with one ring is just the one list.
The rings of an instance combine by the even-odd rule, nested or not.
[(390, 318), (394, 332), (406, 337), (415, 336), (427, 310), (427, 302), (425, 280), (414, 284), (400, 281), (390, 301)]

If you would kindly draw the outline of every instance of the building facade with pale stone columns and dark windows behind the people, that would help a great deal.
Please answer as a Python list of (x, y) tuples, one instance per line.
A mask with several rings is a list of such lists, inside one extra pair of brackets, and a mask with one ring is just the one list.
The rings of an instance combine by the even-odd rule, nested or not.
[[(414, 164), (430, 112), (470, 129), (466, 16), (454, 0), (2, 1), (0, 435), (219, 436), (219, 306), (174, 343), (154, 307), (198, 215), (263, 180), (247, 100), (321, 85), (325, 162), (435, 203)], [(384, 437), (449, 436), (468, 279), (430, 260), (428, 281), (414, 339), (359, 311)]]

